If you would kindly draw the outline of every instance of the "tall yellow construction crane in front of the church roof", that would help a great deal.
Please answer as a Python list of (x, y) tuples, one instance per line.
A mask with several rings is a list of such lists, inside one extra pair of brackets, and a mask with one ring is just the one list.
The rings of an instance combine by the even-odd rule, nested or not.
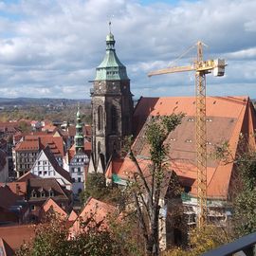
[(168, 73), (195, 71), (196, 97), (196, 162), (197, 162), (197, 225), (207, 221), (207, 133), (206, 133), (206, 74), (224, 76), (225, 60), (203, 60), (203, 43), (197, 42), (197, 59), (191, 65), (167, 67), (152, 71), (149, 77)]

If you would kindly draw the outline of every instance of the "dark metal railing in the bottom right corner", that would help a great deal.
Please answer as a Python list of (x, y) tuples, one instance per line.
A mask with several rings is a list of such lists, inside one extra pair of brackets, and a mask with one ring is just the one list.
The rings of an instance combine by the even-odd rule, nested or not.
[(237, 252), (244, 252), (244, 254), (235, 255), (246, 255), (253, 256), (254, 247), (256, 245), (256, 232), (249, 235), (243, 236), (232, 243), (212, 249), (205, 252), (202, 256), (232, 256)]

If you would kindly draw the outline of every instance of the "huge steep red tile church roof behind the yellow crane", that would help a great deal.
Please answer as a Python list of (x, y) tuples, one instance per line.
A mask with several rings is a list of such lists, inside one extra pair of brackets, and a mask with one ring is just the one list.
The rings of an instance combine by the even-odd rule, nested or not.
[[(134, 123), (137, 134), (133, 145), (142, 169), (146, 168), (149, 146), (144, 133), (148, 117), (185, 113), (182, 123), (167, 138), (170, 145), (170, 168), (184, 181), (186, 178), (196, 180), (195, 166), (195, 100), (193, 97), (141, 98), (135, 109)], [(146, 121), (146, 119), (148, 119)], [(152, 118), (150, 118), (152, 119)], [(236, 154), (240, 133), (249, 135), (256, 129), (255, 110), (247, 97), (207, 97), (207, 137), (208, 153), (214, 145), (229, 141), (230, 150)], [(255, 137), (250, 137), (250, 144), (255, 148)], [(146, 157), (146, 158), (145, 158)], [(116, 168), (115, 168), (116, 166)], [(111, 169), (111, 170), (110, 170)], [(207, 183), (208, 196), (226, 199), (229, 194), (229, 182), (233, 164), (222, 164), (208, 159)], [(115, 161), (109, 166), (107, 174), (119, 174), (127, 178), (129, 172), (135, 171), (133, 163), (125, 157), (123, 164)], [(192, 195), (196, 195), (197, 184), (192, 184)]]

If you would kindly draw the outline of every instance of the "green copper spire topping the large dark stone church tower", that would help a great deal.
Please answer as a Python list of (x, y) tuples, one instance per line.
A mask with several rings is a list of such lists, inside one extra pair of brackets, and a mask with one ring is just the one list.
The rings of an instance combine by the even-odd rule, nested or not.
[(106, 36), (106, 54), (101, 64), (96, 68), (95, 81), (129, 80), (126, 67), (121, 64), (116, 54), (115, 43), (114, 35), (109, 29), (109, 34)]

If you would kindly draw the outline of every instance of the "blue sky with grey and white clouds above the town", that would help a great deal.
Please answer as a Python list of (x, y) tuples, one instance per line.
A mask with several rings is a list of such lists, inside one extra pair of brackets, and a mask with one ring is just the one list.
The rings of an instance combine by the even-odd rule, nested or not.
[(147, 73), (191, 64), (195, 48), (174, 60), (198, 40), (205, 59), (228, 62), (208, 95), (256, 98), (255, 0), (0, 1), (0, 97), (89, 99), (109, 20), (136, 98), (194, 95), (192, 72)]

